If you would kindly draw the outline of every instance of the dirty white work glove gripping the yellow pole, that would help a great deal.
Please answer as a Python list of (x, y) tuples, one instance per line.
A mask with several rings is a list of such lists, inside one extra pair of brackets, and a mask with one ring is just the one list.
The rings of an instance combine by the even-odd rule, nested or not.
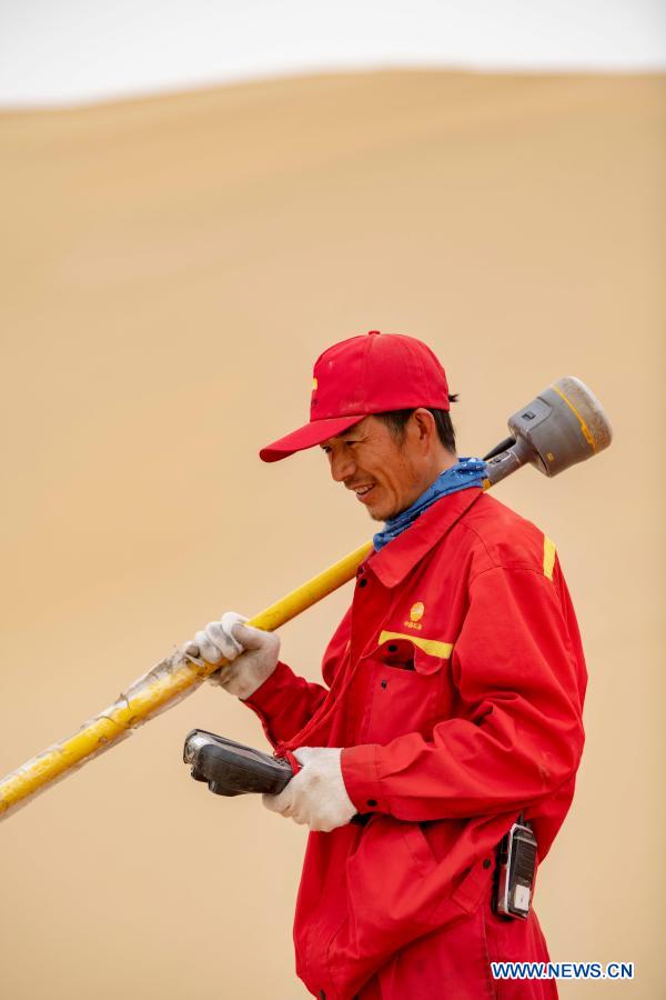
[(246, 626), (248, 619), (226, 611), (220, 621), (210, 621), (185, 646), (190, 657), (203, 657), (209, 663), (229, 660), (209, 680), (245, 701), (272, 674), (280, 656), (280, 637)]

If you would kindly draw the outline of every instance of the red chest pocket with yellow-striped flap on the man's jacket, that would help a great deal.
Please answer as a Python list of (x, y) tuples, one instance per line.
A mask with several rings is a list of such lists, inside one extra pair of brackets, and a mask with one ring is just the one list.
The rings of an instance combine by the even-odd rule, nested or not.
[(359, 742), (387, 743), (407, 732), (428, 737), (442, 718), (448, 687), (447, 651), (435, 653), (408, 636), (382, 632), (377, 649), (363, 661), (365, 712)]

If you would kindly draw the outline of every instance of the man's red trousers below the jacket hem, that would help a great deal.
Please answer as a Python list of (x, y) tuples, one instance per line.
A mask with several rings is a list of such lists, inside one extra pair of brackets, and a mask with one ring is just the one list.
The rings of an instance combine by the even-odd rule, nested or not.
[(495, 980), (492, 961), (549, 961), (534, 911), (506, 920), (482, 901), (461, 923), (397, 952), (357, 1000), (556, 1000), (555, 980)]

